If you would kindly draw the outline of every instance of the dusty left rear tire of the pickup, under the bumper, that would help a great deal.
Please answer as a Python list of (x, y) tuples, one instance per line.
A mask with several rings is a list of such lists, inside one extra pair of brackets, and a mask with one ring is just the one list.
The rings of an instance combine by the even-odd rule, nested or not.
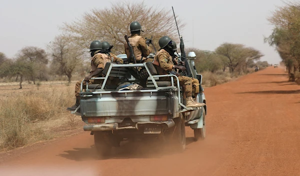
[(111, 153), (111, 143), (109, 142), (109, 133), (108, 132), (94, 132), (94, 143), (97, 153), (100, 158), (107, 158)]

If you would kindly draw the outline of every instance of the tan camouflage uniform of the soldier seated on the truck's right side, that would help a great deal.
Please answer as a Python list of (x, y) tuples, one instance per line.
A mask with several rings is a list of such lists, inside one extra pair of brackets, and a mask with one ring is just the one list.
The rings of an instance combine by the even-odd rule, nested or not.
[[(157, 72), (159, 75), (165, 75), (168, 74), (169, 71), (174, 71), (174, 63), (172, 61), (172, 57), (170, 56), (170, 54), (164, 50), (164, 49), (160, 49), (154, 59), (156, 61), (158, 61), (159, 63), (159, 67), (157, 67)], [(179, 80), (179, 84), (184, 87), (184, 91), (185, 91), (185, 96), (187, 97), (191, 97), (192, 96), (192, 78), (187, 77), (187, 76), (177, 76), (178, 80)], [(163, 77), (163, 78), (159, 78), (160, 81), (169, 81), (170, 78), (168, 77)], [(194, 81), (195, 82), (195, 81)]]

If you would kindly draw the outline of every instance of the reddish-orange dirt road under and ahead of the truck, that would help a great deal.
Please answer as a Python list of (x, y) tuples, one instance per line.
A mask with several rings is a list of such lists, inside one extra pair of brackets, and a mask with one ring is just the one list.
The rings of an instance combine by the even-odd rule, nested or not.
[(286, 80), (282, 69), (268, 67), (205, 89), (206, 139), (193, 142), (192, 130), (186, 128), (187, 146), (182, 154), (155, 154), (149, 147), (124, 144), (114, 149), (115, 158), (98, 160), (93, 136), (83, 132), (14, 151), (11, 157), (4, 156), (2, 161), (0, 158), (0, 173), (6, 172), (3, 176), (27, 172), (36, 176), (53, 176), (53, 173), (55, 176), (297, 176), (300, 175), (300, 86)]

